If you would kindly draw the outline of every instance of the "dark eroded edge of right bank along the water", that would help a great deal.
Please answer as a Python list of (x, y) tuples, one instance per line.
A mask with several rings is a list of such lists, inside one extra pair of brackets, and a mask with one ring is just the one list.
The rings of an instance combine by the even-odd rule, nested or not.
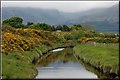
[[(80, 45), (80, 44), (79, 44), (79, 45)], [(111, 73), (110, 70), (109, 70), (109, 71), (103, 71), (103, 70), (105, 70), (105, 69), (104, 69), (104, 66), (103, 66), (103, 67), (100, 67), (99, 65), (94, 65), (94, 64), (92, 64), (86, 57), (81, 57), (81, 56), (80, 56), (80, 53), (79, 53), (79, 52), (76, 52), (76, 50), (75, 50), (76, 48), (77, 48), (77, 46), (75, 46), (75, 47), (73, 48), (73, 50), (74, 50), (74, 54), (75, 54), (75, 56), (76, 56), (76, 58), (77, 58), (78, 60), (81, 60), (83, 63), (88, 64), (88, 65), (90, 65), (91, 67), (93, 67), (94, 69), (99, 70), (99, 71), (102, 72), (103, 74), (115, 76), (116, 79), (118, 79), (118, 78), (120, 77), (119, 73), (118, 73), (118, 74), (115, 73), (115, 72), (112, 72), (112, 73)], [(79, 54), (78, 54), (78, 53), (79, 53)]]

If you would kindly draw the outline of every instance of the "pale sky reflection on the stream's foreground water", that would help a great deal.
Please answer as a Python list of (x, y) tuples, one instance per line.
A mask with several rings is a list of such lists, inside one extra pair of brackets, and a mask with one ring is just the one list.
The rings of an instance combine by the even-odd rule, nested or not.
[(55, 61), (47, 67), (38, 67), (36, 78), (97, 78), (97, 76), (87, 71), (82, 65), (69, 61), (62, 63)]

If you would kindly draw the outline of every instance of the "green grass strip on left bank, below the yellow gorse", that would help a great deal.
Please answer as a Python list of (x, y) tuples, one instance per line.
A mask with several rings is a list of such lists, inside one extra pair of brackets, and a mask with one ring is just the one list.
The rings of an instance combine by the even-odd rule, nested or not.
[(39, 45), (30, 51), (16, 51), (8, 55), (2, 54), (2, 79), (31, 79), (37, 74), (33, 59), (49, 47)]

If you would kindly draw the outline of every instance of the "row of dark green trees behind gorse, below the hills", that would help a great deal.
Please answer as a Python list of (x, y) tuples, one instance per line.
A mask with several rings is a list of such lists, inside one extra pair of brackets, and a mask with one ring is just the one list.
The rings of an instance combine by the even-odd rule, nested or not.
[(27, 22), (27, 24), (23, 24), (23, 19), (20, 17), (11, 17), (2, 22), (3, 25), (9, 25), (15, 28), (31, 28), (31, 29), (41, 29), (41, 30), (48, 30), (48, 31), (71, 31), (72, 29), (77, 29), (78, 27), (82, 27), (80, 24), (75, 24), (74, 28), (70, 28), (67, 25), (48, 25), (46, 23), (33, 23)]

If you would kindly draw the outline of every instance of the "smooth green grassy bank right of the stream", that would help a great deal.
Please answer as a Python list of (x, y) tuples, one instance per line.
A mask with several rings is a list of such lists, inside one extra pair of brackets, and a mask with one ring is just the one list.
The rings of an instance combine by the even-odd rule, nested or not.
[(75, 54), (85, 63), (106, 74), (119, 73), (119, 44), (80, 44), (74, 47)]

